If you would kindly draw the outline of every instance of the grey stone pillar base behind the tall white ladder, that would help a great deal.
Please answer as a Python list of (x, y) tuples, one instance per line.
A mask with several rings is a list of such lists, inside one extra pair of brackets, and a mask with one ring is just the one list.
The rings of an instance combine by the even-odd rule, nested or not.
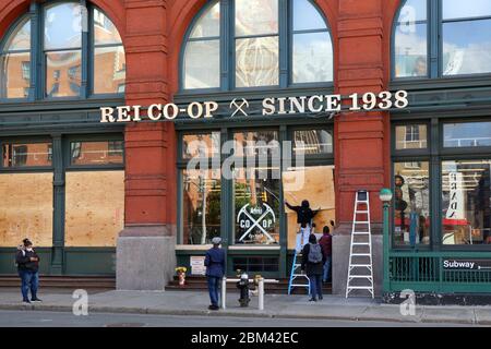
[[(382, 296), (383, 281), (383, 238), (381, 234), (373, 233), (374, 231), (378, 232), (379, 226), (376, 224), (372, 225), (373, 287), (375, 297)], [(346, 294), (350, 243), (351, 224), (343, 224), (333, 234), (333, 294), (343, 297)], [(370, 292), (368, 290), (352, 290), (349, 294), (368, 297)]]

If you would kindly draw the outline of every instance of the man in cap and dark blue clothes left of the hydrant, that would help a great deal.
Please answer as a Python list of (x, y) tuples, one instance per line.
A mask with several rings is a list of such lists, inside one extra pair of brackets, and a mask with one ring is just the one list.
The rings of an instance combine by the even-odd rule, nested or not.
[(206, 278), (208, 281), (209, 300), (212, 301), (212, 305), (208, 306), (209, 310), (219, 309), (219, 286), (225, 274), (225, 251), (220, 249), (220, 238), (213, 238), (213, 248), (206, 251), (205, 257)]

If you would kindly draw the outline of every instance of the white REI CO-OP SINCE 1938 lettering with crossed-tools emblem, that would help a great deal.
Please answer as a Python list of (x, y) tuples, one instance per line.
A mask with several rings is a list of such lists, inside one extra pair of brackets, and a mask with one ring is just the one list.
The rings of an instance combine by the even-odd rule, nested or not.
[[(380, 94), (352, 94), (348, 97), (342, 95), (314, 95), (300, 97), (268, 97), (262, 99), (260, 115), (291, 115), (291, 113), (322, 113), (327, 115), (342, 111), (371, 111), (404, 109), (408, 106), (406, 91), (381, 92)], [(171, 121), (179, 117), (191, 119), (209, 119), (214, 117), (220, 105), (217, 101), (192, 101), (185, 106), (176, 104), (153, 104), (148, 108), (142, 106), (120, 106), (100, 108), (100, 122), (137, 122), (142, 120)], [(229, 116), (248, 117), (251, 115), (250, 103), (246, 98), (235, 98), (227, 103)], [(147, 109), (143, 117), (143, 109)], [(256, 108), (254, 108), (256, 109)]]

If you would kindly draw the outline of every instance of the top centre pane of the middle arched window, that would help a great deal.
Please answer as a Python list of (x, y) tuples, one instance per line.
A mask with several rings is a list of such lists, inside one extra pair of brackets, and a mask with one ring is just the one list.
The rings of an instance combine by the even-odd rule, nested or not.
[(278, 0), (236, 0), (236, 36), (278, 33)]

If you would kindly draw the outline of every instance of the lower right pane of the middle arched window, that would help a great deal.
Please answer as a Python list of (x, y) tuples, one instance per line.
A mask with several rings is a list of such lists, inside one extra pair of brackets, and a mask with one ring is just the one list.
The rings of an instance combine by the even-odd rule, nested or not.
[(333, 81), (333, 45), (327, 32), (294, 35), (294, 83)]

